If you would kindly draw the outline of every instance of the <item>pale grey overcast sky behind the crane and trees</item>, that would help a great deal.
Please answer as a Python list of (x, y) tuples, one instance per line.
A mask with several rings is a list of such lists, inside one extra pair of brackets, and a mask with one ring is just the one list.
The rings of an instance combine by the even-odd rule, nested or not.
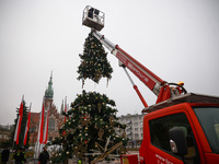
[[(13, 124), (22, 95), (41, 112), (53, 71), (54, 103), (70, 104), (82, 90), (106, 94), (118, 116), (140, 114), (143, 105), (117, 59), (108, 83), (78, 81), (79, 54), (90, 32), (82, 12), (105, 12), (102, 34), (168, 82), (184, 81), (188, 92), (219, 96), (218, 0), (0, 0), (0, 124)], [(146, 102), (157, 97), (132, 73)]]

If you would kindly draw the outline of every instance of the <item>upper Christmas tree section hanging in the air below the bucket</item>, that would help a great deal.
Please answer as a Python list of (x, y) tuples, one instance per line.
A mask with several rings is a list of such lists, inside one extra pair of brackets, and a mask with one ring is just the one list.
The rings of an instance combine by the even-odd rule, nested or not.
[(112, 78), (113, 68), (106, 58), (107, 52), (105, 52), (100, 40), (90, 33), (88, 38), (85, 38), (83, 47), (83, 54), (79, 55), (81, 65), (78, 68), (78, 80), (82, 80), (83, 84), (87, 78), (96, 83), (100, 82), (102, 77), (110, 80)]

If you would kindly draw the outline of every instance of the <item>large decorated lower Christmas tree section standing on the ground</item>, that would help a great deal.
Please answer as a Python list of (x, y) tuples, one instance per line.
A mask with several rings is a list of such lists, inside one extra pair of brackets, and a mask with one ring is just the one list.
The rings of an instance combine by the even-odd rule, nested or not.
[[(125, 153), (126, 126), (117, 121), (116, 112), (115, 102), (105, 94), (82, 91), (65, 114), (68, 119), (59, 131), (61, 138), (53, 142), (62, 145), (51, 157), (53, 162), (65, 162), (73, 155), (83, 160), (85, 153), (104, 153), (107, 149), (111, 150), (108, 153), (116, 149)], [(99, 160), (95, 157), (90, 155), (90, 162)]]

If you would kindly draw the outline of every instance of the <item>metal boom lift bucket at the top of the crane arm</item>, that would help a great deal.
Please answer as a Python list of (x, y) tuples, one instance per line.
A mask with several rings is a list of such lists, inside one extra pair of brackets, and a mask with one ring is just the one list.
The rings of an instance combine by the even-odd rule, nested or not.
[(85, 26), (101, 31), (104, 27), (104, 12), (90, 5), (87, 5), (83, 10), (82, 24)]

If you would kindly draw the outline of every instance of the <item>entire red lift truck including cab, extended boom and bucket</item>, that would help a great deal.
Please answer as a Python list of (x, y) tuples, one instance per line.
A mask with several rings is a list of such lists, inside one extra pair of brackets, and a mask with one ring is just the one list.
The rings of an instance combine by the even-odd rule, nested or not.
[[(118, 45), (97, 31), (104, 27), (104, 13), (92, 7), (83, 11), (82, 24), (157, 96), (148, 106), (130, 79), (148, 113), (143, 118), (143, 139), (139, 159), (130, 164), (219, 164), (219, 97), (187, 93), (183, 83), (163, 81)], [(127, 72), (127, 71), (126, 71)]]

